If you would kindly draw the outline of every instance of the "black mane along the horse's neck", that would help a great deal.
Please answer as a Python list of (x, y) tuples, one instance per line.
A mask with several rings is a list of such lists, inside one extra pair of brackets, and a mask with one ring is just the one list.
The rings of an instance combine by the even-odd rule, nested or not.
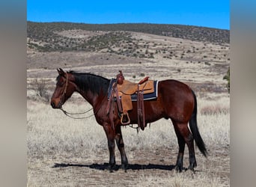
[(85, 92), (91, 91), (91, 93), (99, 94), (101, 91), (103, 94), (108, 93), (109, 79), (102, 76), (97, 76), (91, 73), (77, 73), (75, 71), (70, 71), (75, 77), (76, 85)]

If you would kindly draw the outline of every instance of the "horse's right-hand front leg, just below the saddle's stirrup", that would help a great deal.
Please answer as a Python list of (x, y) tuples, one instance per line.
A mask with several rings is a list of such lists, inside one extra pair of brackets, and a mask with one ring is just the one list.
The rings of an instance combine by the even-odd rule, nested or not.
[(127, 154), (125, 153), (125, 150), (124, 150), (124, 141), (123, 141), (123, 136), (121, 132), (121, 126), (117, 126), (115, 130), (116, 130), (115, 141), (118, 145), (118, 150), (120, 151), (120, 154), (121, 154), (122, 168), (124, 169), (124, 171), (127, 171), (128, 160), (127, 160)]

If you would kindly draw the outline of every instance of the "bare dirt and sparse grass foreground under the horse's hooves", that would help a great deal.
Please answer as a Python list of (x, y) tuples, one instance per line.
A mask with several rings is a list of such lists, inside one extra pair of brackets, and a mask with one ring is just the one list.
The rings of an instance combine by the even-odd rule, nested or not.
[[(101, 152), (101, 153), (100, 153)], [(132, 159), (130, 154), (132, 153)], [(43, 156), (43, 159), (32, 159), (28, 165), (30, 180), (28, 186), (175, 186), (174, 171), (177, 150), (156, 148), (156, 150), (128, 150), (129, 168), (125, 173), (121, 169), (120, 157), (117, 154), (115, 171), (108, 171), (107, 150), (99, 150), (94, 159), (85, 156), (66, 155)], [(197, 178), (213, 176), (219, 180), (218, 185), (229, 186), (229, 147), (210, 149), (207, 159), (197, 154), (198, 167), (195, 174), (192, 171), (183, 171), (183, 179), (177, 184), (180, 186), (194, 186)], [(188, 156), (185, 155), (184, 167), (188, 166)], [(176, 177), (177, 178), (177, 177)], [(153, 180), (147, 183), (149, 180)], [(205, 180), (204, 182), (207, 182)], [(211, 183), (211, 181), (208, 181)], [(200, 186), (211, 186), (201, 184)], [(212, 186), (215, 186), (212, 184)]]

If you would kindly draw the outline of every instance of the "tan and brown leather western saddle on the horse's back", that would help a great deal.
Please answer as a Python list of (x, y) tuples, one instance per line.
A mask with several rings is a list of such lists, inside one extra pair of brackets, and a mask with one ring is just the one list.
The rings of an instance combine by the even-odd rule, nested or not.
[(113, 112), (115, 101), (118, 104), (118, 115), (121, 117), (121, 123), (127, 125), (130, 123), (128, 111), (132, 110), (132, 94), (137, 94), (137, 109), (138, 109), (138, 127), (144, 130), (144, 93), (153, 93), (153, 81), (148, 80), (149, 76), (141, 79), (140, 82), (134, 83), (124, 79), (123, 73), (120, 70), (116, 76), (116, 81), (112, 85), (111, 94), (107, 106), (107, 114), (110, 117), (112, 128), (114, 128)]

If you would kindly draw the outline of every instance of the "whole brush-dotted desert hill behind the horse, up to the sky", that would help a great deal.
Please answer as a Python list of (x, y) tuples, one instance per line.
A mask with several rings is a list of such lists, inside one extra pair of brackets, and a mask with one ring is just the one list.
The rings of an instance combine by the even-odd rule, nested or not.
[(195, 90), (226, 92), (230, 31), (189, 25), (28, 22), (28, 88), (33, 79), (54, 86), (56, 68), (131, 81), (178, 79)]

